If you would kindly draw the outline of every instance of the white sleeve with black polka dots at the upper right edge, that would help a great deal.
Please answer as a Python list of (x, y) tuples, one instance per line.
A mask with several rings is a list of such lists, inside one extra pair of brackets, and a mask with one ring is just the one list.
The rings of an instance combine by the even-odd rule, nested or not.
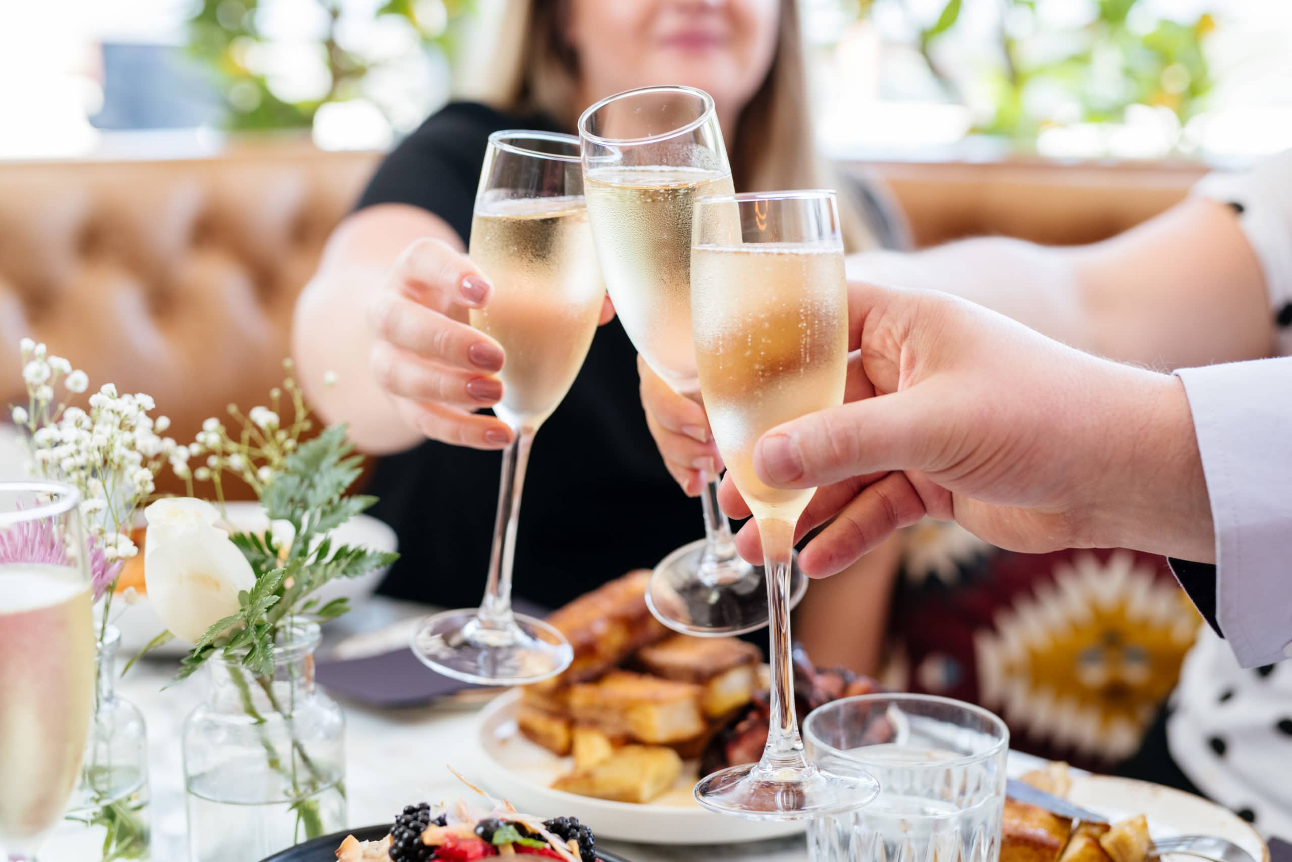
[(1193, 194), (1229, 204), (1238, 213), (1265, 274), (1279, 354), (1292, 354), (1292, 150), (1264, 159), (1251, 171), (1211, 173)]

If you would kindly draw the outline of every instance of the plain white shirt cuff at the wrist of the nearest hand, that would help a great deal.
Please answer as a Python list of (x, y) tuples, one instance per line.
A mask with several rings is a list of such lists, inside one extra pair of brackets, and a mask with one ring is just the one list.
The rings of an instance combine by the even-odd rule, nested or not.
[(1216, 527), (1220, 629), (1243, 667), (1292, 658), (1292, 357), (1176, 373)]

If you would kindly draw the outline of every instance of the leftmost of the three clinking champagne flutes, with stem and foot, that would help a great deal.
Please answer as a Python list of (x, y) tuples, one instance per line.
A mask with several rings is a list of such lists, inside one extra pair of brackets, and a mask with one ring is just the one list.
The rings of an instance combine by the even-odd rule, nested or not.
[(579, 138), (518, 131), (490, 136), (470, 256), (494, 282), (488, 308), (472, 310), (470, 321), (506, 352), (499, 373), (503, 401), (494, 412), (516, 438), (503, 452), (484, 601), (479, 609), (428, 616), (412, 647), (444, 676), (527, 685), (556, 676), (572, 658), (561, 632), (512, 611), (512, 562), (530, 445), (574, 384), (606, 295), (583, 199)]

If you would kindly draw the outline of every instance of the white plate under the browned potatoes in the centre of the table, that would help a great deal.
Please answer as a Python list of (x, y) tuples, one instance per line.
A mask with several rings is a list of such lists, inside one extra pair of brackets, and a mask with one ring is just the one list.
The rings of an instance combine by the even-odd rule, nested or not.
[(578, 817), (598, 836), (645, 844), (733, 844), (796, 835), (806, 828), (801, 821), (745, 821), (700, 808), (691, 796), (698, 779), (694, 760), (686, 761), (672, 790), (645, 805), (553, 790), (552, 782), (570, 772), (571, 760), (521, 735), (516, 726), (519, 697), (519, 691), (508, 691), (495, 698), (481, 712), (473, 734), (484, 784), (518, 810)]

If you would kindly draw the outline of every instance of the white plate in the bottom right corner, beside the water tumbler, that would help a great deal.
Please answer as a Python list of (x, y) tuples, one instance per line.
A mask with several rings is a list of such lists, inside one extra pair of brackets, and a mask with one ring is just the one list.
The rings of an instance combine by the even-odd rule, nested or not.
[(1216, 835), (1242, 846), (1256, 862), (1270, 862), (1270, 850), (1256, 830), (1229, 809), (1193, 794), (1130, 778), (1072, 775), (1067, 799), (1110, 821), (1143, 814), (1149, 834), (1156, 839)]

